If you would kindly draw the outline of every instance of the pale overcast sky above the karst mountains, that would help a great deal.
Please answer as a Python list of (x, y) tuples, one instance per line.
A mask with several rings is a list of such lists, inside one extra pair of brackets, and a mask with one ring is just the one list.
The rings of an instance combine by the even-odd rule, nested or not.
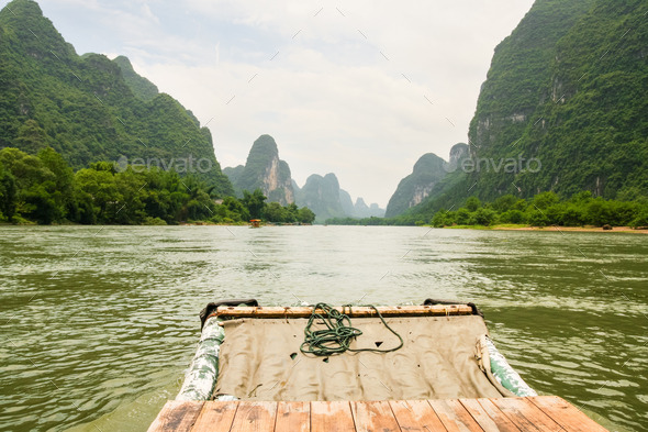
[(335, 173), (384, 208), (418, 157), (467, 142), (493, 49), (533, 0), (38, 3), (79, 54), (126, 55), (209, 123), (223, 167), (267, 133), (300, 186)]

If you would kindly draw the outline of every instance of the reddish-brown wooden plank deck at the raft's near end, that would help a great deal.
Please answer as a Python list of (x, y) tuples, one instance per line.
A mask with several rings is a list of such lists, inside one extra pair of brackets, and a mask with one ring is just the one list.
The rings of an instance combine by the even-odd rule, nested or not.
[(148, 432), (606, 431), (557, 396), (380, 401), (168, 401)]

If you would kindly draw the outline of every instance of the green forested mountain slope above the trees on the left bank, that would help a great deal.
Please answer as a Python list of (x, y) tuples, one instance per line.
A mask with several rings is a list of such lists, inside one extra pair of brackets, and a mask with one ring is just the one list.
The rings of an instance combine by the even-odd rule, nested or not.
[(234, 193), (209, 130), (125, 57), (77, 55), (35, 1), (11, 1), (0, 29), (0, 148), (36, 155), (49, 146), (74, 169), (124, 157), (204, 159), (209, 169), (193, 176), (220, 196)]

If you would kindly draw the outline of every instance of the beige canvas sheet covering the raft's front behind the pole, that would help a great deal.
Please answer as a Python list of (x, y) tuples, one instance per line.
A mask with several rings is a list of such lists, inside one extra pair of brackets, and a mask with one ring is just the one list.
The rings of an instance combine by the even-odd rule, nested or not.
[[(404, 341), (392, 353), (315, 357), (300, 352), (306, 319), (224, 322), (214, 396), (242, 400), (390, 400), (510, 396), (480, 369), (479, 315), (390, 318)], [(398, 346), (378, 318), (354, 318), (351, 347)]]

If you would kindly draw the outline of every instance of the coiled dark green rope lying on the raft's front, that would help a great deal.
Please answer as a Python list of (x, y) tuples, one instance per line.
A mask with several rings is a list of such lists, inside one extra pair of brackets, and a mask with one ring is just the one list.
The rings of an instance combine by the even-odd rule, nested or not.
[[(351, 310), (350, 304), (343, 306), (344, 308), (348, 307), (349, 311)], [(372, 308), (380, 321), (384, 324), (387, 330), (392, 332), (396, 335), (396, 337), (401, 341), (399, 346), (394, 348), (388, 350), (379, 350), (379, 348), (351, 348), (350, 344), (354, 339), (358, 337), (362, 334), (362, 332), (356, 328), (351, 326), (351, 319), (337, 309), (334, 309), (332, 306), (326, 303), (317, 303), (313, 308), (313, 312), (311, 313), (311, 318), (309, 318), (309, 322), (306, 323), (306, 328), (304, 329), (304, 342), (302, 342), (300, 346), (300, 351), (304, 354), (314, 354), (317, 356), (328, 356), (328, 355), (336, 355), (342, 354), (344, 352), (350, 351), (354, 353), (359, 353), (362, 351), (368, 351), (371, 353), (391, 353), (392, 351), (400, 350), (403, 346), (403, 337), (398, 334), (382, 318), (382, 314), (376, 309), (375, 306), (368, 304), (369, 308)], [(317, 313), (317, 310), (321, 309), (324, 313)], [(326, 329), (322, 330), (312, 330), (313, 324), (317, 321), (319, 324), (322, 322)]]

